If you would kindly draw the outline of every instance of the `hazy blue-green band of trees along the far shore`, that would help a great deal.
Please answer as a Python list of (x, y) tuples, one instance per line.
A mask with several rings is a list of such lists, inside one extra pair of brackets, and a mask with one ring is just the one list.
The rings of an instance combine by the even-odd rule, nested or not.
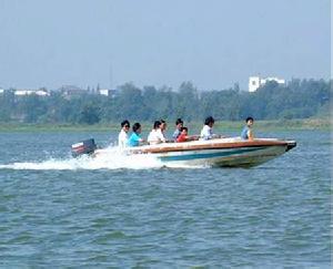
[(239, 121), (251, 115), (255, 120), (306, 118), (330, 113), (331, 81), (292, 80), (286, 85), (269, 82), (254, 93), (240, 91), (238, 84), (226, 90), (199, 92), (191, 82), (178, 91), (170, 87), (140, 89), (127, 83), (115, 96), (80, 94), (63, 96), (16, 96), (12, 91), (0, 94), (0, 122), (95, 124), (99, 122)]

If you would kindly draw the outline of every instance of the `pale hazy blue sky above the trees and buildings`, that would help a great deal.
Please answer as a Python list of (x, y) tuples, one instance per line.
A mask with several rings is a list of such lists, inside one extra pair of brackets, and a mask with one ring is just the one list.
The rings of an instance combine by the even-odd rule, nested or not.
[(330, 0), (0, 0), (0, 87), (330, 77)]

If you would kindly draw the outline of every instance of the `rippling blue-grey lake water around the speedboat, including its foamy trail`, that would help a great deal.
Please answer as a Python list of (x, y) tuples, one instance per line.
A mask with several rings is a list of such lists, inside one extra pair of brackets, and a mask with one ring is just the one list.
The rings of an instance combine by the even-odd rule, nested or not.
[(0, 266), (330, 268), (330, 132), (262, 133), (297, 147), (259, 167), (93, 163), (109, 133), (0, 133)]

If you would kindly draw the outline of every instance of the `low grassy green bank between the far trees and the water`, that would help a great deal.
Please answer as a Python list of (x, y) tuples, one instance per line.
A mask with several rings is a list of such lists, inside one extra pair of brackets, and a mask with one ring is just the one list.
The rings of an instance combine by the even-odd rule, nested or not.
[[(150, 130), (152, 123), (142, 123), (143, 131)], [(200, 130), (202, 123), (185, 123), (190, 130)], [(242, 121), (219, 121), (215, 124), (218, 131), (236, 131), (244, 125)], [(119, 131), (120, 123), (101, 123), (94, 125), (78, 124), (27, 124), (27, 123), (0, 123), (0, 132), (110, 132)], [(169, 122), (169, 131), (174, 128), (174, 123)], [(330, 131), (330, 118), (305, 118), (305, 120), (273, 120), (273, 121), (255, 121), (254, 128), (261, 131), (301, 131), (301, 130), (320, 130)], [(194, 132), (191, 132), (194, 133)]]

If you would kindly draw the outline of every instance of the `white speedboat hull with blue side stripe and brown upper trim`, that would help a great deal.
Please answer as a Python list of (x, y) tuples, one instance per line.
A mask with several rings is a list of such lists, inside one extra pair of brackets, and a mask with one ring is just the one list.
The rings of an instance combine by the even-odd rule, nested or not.
[[(245, 141), (240, 137), (231, 137), (128, 147), (124, 153), (130, 155), (151, 154), (167, 166), (253, 167), (273, 159), (295, 146), (295, 141), (275, 138)], [(108, 149), (95, 149), (92, 155), (99, 156), (105, 153)]]

